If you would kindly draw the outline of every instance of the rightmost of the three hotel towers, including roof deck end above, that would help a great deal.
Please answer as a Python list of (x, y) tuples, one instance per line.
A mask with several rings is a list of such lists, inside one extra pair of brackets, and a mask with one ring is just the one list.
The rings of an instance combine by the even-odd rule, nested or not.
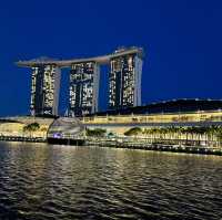
[(110, 60), (109, 109), (141, 105), (142, 49), (124, 52), (117, 50)]

